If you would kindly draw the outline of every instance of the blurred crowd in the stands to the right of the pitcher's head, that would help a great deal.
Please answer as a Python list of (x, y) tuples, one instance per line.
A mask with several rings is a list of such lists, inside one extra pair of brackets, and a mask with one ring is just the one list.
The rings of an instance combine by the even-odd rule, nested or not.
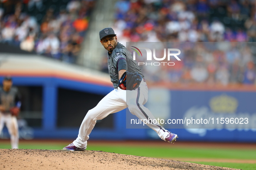
[(207, 43), (179, 46), (185, 54), (175, 66), (142, 66), (148, 81), (256, 84), (255, 43), (249, 43), (256, 41), (255, 0), (118, 0), (115, 8), (122, 44), (227, 42), (213, 50)]

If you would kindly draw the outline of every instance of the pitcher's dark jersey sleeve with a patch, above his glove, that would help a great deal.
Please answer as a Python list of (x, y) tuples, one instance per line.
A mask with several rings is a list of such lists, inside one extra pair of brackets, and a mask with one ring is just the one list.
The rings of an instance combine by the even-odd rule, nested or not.
[(127, 70), (126, 54), (123, 49), (113, 50), (113, 64), (116, 66), (118, 71), (121, 69)]

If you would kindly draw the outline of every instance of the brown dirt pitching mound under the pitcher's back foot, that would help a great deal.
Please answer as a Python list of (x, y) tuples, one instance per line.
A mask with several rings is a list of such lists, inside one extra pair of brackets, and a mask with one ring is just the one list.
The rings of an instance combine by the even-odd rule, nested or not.
[(103, 151), (0, 149), (0, 160), (2, 170), (234, 170)]

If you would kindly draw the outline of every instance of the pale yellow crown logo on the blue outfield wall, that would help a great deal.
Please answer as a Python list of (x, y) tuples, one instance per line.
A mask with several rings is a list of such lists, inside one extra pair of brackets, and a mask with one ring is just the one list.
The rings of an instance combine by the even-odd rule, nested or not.
[(210, 107), (215, 113), (235, 113), (238, 102), (236, 98), (222, 94), (210, 100)]

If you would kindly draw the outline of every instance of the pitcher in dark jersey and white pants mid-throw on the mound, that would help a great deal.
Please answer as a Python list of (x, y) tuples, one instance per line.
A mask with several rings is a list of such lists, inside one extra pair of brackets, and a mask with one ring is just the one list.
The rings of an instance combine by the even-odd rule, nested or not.
[[(119, 112), (127, 106), (130, 112), (136, 115), (139, 119), (155, 119), (152, 113), (143, 106), (148, 100), (148, 87), (138, 64), (133, 60), (130, 51), (117, 42), (117, 36), (112, 28), (104, 28), (100, 31), (100, 42), (108, 51), (108, 71), (114, 90), (107, 94), (96, 107), (87, 112), (81, 123), (77, 139), (64, 147), (64, 150), (85, 150), (87, 147), (87, 140), (89, 139), (89, 135), (94, 128), (96, 121), (104, 119), (110, 113)], [(139, 83), (138, 88), (125, 90), (126, 71), (127, 73), (138, 74), (138, 76), (143, 78)], [(136, 84), (136, 82), (132, 84)], [(127, 101), (126, 92), (129, 93), (130, 96), (127, 98)], [(159, 124), (148, 123), (147, 125), (155, 130), (159, 137), (164, 141), (174, 143), (178, 137), (176, 134), (165, 130)]]

